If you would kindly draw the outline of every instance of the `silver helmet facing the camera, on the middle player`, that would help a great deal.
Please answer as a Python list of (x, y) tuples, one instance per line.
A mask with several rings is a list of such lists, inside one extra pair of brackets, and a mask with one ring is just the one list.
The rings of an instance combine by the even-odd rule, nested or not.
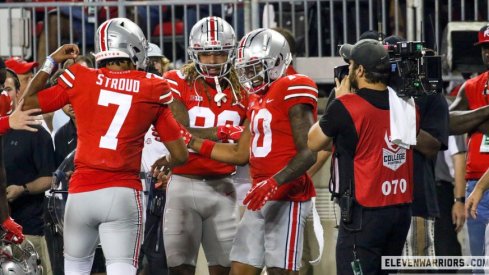
[[(192, 27), (189, 37), (188, 55), (195, 63), (197, 72), (203, 77), (225, 76), (233, 65), (236, 50), (236, 35), (228, 22), (216, 16), (205, 17)], [(204, 64), (199, 54), (227, 53), (226, 62)], [(217, 72), (217, 73), (216, 73)]]

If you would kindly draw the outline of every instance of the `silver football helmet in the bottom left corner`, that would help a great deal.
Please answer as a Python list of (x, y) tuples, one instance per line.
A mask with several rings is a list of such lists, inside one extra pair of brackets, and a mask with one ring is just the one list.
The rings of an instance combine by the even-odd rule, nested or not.
[(41, 275), (42, 266), (34, 245), (28, 240), (22, 244), (2, 244), (0, 247), (0, 275)]

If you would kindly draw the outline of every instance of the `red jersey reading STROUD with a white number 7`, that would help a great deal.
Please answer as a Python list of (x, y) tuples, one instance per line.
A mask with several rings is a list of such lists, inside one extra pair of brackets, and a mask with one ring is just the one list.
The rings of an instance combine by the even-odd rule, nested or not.
[[(53, 96), (54, 94), (54, 96)], [(180, 137), (166, 104), (167, 82), (141, 71), (90, 69), (75, 64), (57, 86), (38, 94), (43, 112), (73, 105), (78, 145), (71, 193), (119, 186), (141, 190), (139, 170), (144, 135), (155, 124), (162, 140)]]

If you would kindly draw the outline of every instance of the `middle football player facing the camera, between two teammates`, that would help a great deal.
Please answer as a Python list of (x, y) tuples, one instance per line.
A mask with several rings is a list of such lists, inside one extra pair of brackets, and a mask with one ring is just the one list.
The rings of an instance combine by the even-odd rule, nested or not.
[[(198, 21), (189, 35), (191, 63), (164, 76), (175, 98), (173, 115), (190, 132), (213, 140), (237, 140), (247, 95), (233, 69), (236, 36), (215, 16)], [(234, 165), (190, 153), (175, 167), (167, 188), (164, 243), (172, 274), (194, 274), (202, 244), (211, 275), (229, 274), (229, 253), (239, 220), (231, 175)]]

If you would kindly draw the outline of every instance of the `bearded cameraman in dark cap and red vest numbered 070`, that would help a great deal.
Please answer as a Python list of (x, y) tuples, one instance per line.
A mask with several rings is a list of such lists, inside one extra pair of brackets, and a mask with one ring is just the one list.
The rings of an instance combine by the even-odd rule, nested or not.
[[(309, 131), (308, 146), (319, 151), (334, 143), (331, 189), (341, 208), (338, 274), (387, 274), (381, 256), (401, 255), (411, 221), (413, 150), (388, 140), (390, 63), (382, 44), (360, 40), (343, 45), (340, 54), (349, 60), (349, 74)], [(386, 151), (398, 160), (396, 167)]]

